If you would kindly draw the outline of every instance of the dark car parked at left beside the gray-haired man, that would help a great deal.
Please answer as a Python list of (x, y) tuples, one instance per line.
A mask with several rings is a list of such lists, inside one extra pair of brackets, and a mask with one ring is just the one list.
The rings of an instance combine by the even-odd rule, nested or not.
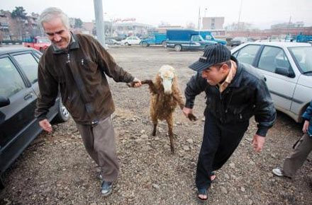
[[(1, 175), (42, 131), (34, 116), (41, 55), (31, 48), (0, 48), (0, 187)], [(69, 113), (60, 98), (47, 117), (67, 121)]]

